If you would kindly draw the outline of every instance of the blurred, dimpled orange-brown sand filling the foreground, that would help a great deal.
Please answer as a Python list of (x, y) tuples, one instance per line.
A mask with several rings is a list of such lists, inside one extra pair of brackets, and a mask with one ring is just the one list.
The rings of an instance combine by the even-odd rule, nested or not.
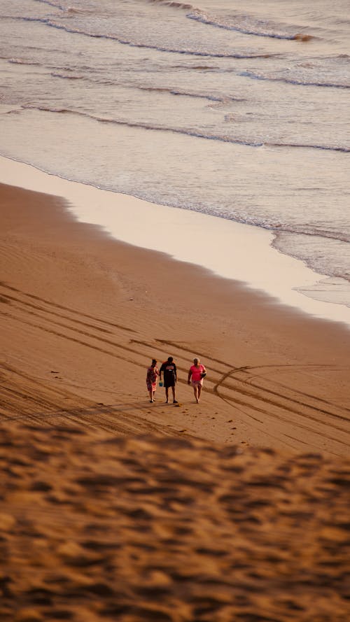
[(349, 620), (350, 462), (1, 425), (3, 622)]

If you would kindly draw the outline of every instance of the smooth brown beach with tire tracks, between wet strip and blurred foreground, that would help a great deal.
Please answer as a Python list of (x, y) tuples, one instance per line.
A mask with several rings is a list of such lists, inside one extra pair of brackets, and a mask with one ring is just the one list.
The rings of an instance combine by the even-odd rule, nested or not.
[[(347, 455), (349, 332), (0, 186), (1, 420)], [(174, 356), (177, 404), (146, 369)], [(197, 355), (200, 404), (187, 386)]]

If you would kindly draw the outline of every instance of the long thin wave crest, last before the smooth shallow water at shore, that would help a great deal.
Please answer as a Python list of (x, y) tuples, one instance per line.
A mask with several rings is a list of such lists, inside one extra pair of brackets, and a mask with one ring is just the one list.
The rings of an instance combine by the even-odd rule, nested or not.
[(222, 143), (230, 143), (232, 145), (241, 145), (246, 147), (279, 147), (279, 148), (298, 148), (298, 149), (321, 149), (325, 151), (336, 151), (342, 153), (350, 153), (350, 148), (342, 146), (332, 145), (314, 145), (314, 144), (302, 144), (302, 143), (272, 143), (266, 141), (248, 141), (235, 139), (232, 136), (223, 136), (220, 134), (205, 134), (204, 132), (196, 132), (195, 130), (182, 129), (179, 127), (168, 127), (165, 125), (151, 125), (151, 123), (122, 121), (118, 119), (111, 119), (105, 117), (99, 117), (97, 115), (91, 115), (89, 113), (82, 113), (78, 111), (69, 110), (67, 108), (55, 108), (50, 106), (34, 106), (31, 104), (23, 105), (23, 110), (38, 110), (51, 113), (64, 113), (71, 115), (79, 115), (85, 118), (89, 118), (99, 123), (106, 123), (111, 125), (119, 125), (122, 127), (132, 127), (135, 129), (146, 129), (151, 132), (172, 132), (172, 134), (183, 134), (185, 136), (191, 136), (197, 139), (204, 139), (207, 141), (218, 141)]

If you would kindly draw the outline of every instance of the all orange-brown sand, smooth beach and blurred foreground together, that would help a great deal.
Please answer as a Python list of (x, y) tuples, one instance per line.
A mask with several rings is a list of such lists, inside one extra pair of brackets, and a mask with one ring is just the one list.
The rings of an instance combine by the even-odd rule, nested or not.
[(0, 215), (1, 619), (349, 619), (349, 331), (59, 197)]

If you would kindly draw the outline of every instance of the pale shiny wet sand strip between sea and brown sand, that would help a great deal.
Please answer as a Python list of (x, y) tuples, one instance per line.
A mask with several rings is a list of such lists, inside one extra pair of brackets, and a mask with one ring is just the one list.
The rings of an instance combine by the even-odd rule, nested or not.
[(349, 307), (312, 297), (329, 277), (273, 248), (274, 234), (267, 229), (68, 181), (7, 157), (0, 164), (0, 182), (18, 185), (20, 179), (22, 188), (60, 196), (79, 222), (97, 225), (116, 240), (199, 265), (263, 292), (274, 304), (350, 328)]

